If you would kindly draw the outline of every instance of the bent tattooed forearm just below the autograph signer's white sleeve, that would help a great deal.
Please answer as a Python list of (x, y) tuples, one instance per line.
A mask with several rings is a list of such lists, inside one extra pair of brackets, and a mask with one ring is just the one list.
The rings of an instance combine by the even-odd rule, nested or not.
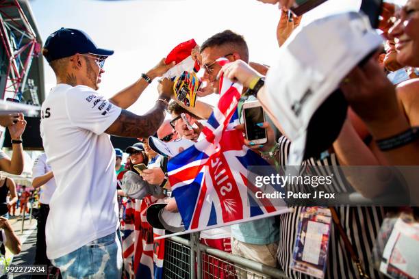
[(149, 137), (162, 125), (166, 111), (166, 105), (157, 102), (155, 106), (144, 114), (137, 116), (123, 109), (118, 119), (107, 128), (105, 133), (120, 137)]

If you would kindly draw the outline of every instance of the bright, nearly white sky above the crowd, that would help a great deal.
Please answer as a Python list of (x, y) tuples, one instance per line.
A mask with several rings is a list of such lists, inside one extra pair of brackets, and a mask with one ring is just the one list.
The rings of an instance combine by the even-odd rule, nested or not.
[[(231, 29), (243, 34), (251, 61), (270, 64), (277, 51), (277, 6), (256, 0), (33, 0), (42, 40), (60, 27), (86, 31), (99, 47), (114, 49), (107, 59), (99, 91), (107, 97), (138, 79), (180, 42), (194, 38), (201, 44), (210, 36)], [(358, 10), (360, 0), (329, 0), (303, 21)], [(45, 66), (47, 91), (55, 77)], [(214, 96), (215, 97), (215, 96)], [(147, 111), (157, 98), (153, 83), (130, 110)], [(214, 102), (215, 98), (208, 101)]]

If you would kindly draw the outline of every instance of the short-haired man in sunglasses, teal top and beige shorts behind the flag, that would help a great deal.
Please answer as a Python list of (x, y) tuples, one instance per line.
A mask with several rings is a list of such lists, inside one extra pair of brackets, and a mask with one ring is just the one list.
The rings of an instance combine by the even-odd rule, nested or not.
[[(204, 78), (209, 81), (214, 92), (218, 93), (218, 74), (221, 66), (216, 62), (220, 57), (229, 59), (230, 62), (242, 60), (249, 64), (249, 49), (243, 36), (231, 30), (225, 30), (208, 38), (201, 45), (201, 65), (205, 73)], [(251, 64), (253, 67), (254, 64)], [(257, 70), (266, 74), (266, 67), (256, 64)], [(262, 67), (260, 67), (262, 66)], [(227, 73), (225, 72), (225, 75)], [(240, 106), (240, 103), (239, 103)], [(205, 238), (210, 238), (212, 230), (204, 233)], [(249, 258), (271, 267), (276, 267), (279, 241), (279, 229), (275, 224), (275, 217), (268, 217), (242, 224), (231, 226), (231, 252), (244, 258)]]

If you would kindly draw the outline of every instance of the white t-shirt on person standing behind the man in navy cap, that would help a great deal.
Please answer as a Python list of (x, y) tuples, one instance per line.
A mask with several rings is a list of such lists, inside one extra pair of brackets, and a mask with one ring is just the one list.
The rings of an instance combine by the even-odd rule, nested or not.
[[(51, 165), (47, 164), (47, 155), (42, 153), (35, 159), (34, 167), (32, 167), (32, 179), (44, 175), (52, 170)], [(49, 204), (51, 196), (55, 191), (55, 177), (51, 178), (45, 185), (41, 186), (39, 201), (42, 204)]]

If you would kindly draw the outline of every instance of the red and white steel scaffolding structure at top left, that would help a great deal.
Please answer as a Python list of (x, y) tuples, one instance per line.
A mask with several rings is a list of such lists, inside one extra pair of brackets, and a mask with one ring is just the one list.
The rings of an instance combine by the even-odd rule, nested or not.
[[(0, 0), (0, 36), (5, 62), (0, 65), (3, 72), (0, 99), (14, 98), (21, 103), (39, 105), (38, 88), (28, 75), (41, 46), (17, 0)], [(25, 94), (27, 98), (25, 92), (29, 93)]]

